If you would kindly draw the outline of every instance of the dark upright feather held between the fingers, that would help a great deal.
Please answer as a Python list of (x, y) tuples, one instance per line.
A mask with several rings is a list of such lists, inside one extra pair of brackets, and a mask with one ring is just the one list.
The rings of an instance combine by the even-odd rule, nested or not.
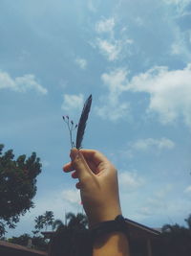
[(88, 120), (88, 115), (90, 112), (91, 105), (92, 105), (92, 94), (86, 100), (86, 102), (83, 106), (82, 112), (81, 112), (79, 122), (78, 122), (78, 128), (77, 128), (77, 134), (76, 134), (76, 144), (75, 144), (75, 147), (77, 150), (79, 150), (81, 148), (81, 143), (83, 140), (83, 136), (84, 136), (86, 123)]

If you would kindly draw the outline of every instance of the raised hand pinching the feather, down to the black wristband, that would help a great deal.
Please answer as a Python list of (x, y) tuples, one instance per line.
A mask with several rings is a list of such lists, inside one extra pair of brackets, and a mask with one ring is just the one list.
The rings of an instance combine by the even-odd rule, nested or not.
[(76, 188), (80, 189), (90, 227), (114, 220), (121, 214), (116, 168), (99, 151), (73, 149), (71, 159), (63, 169), (75, 170), (72, 176), (79, 179)]

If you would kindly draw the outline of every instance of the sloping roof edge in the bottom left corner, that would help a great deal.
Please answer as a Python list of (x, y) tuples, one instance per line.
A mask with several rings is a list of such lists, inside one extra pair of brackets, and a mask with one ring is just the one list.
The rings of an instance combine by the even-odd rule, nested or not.
[[(2, 248), (4, 248), (4, 251), (5, 251), (5, 249), (22, 251), (22, 252), (25, 252), (26, 255), (32, 255), (32, 254), (36, 255), (36, 256), (47, 255), (47, 252), (35, 250), (35, 249), (28, 248), (28, 247), (25, 247), (25, 246), (22, 246), (19, 244), (11, 244), (11, 243), (8, 243), (5, 241), (0, 241), (0, 252), (1, 252)], [(29, 253), (27, 253), (27, 252), (29, 252)]]

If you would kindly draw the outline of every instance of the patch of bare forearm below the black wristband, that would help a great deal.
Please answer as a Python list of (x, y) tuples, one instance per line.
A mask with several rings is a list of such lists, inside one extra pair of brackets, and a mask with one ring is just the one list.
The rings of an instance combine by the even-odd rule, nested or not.
[(97, 238), (93, 256), (130, 256), (127, 237), (122, 232), (108, 233)]

